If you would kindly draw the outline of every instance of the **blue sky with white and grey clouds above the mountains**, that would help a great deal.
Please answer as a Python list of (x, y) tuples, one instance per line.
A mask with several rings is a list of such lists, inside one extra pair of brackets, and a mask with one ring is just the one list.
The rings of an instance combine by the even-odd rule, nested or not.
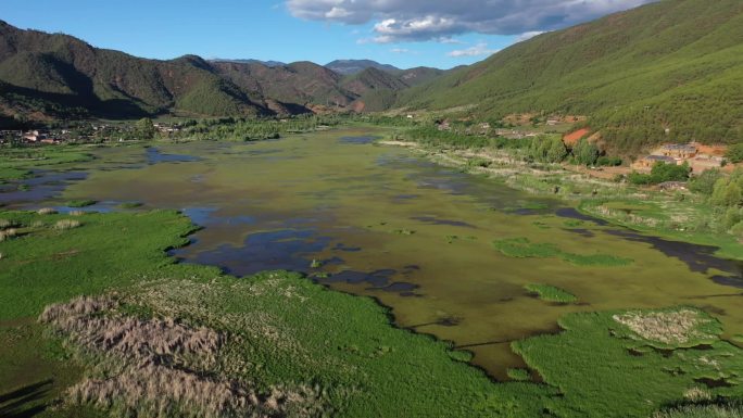
[(0, 0), (0, 20), (137, 56), (471, 64), (653, 0)]

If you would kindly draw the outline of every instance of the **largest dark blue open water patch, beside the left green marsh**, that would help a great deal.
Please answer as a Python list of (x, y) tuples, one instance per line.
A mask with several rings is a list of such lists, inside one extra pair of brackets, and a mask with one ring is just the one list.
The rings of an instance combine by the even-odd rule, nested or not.
[[(324, 251), (330, 241), (330, 237), (317, 236), (313, 229), (263, 231), (249, 235), (243, 246), (224, 244), (181, 259), (218, 266), (236, 276), (250, 276), (265, 270), (307, 273), (311, 261), (306, 254)], [(184, 252), (176, 250), (173, 253), (178, 256)]]

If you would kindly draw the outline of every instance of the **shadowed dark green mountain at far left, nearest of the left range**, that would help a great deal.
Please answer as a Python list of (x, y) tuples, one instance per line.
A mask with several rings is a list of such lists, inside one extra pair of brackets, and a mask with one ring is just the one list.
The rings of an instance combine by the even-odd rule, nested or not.
[[(0, 23), (0, 80), (34, 101), (79, 106), (93, 116), (133, 117), (168, 110), (203, 115), (268, 113), (199, 58), (143, 60), (4, 22)], [(5, 97), (9, 90), (0, 92)], [(36, 111), (43, 113), (43, 109)]]

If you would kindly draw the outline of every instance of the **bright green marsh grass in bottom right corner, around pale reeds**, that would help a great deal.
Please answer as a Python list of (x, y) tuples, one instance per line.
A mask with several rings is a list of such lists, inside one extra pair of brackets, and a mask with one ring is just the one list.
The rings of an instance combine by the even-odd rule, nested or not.
[[(667, 309), (667, 313), (690, 308)], [(693, 309), (709, 322), (714, 318)], [(656, 311), (635, 311), (641, 315)], [(632, 312), (630, 312), (632, 313)], [(710, 396), (741, 396), (743, 352), (719, 339), (701, 339), (704, 345), (653, 347), (616, 316), (626, 311), (568, 314), (561, 318), (563, 331), (538, 335), (512, 344), (530, 368), (547, 384), (561, 388), (564, 397), (547, 402), (558, 417), (648, 417), (664, 406), (683, 400), (689, 390), (702, 385)], [(671, 320), (668, 325), (673, 326)], [(708, 379), (725, 384), (706, 388)]]

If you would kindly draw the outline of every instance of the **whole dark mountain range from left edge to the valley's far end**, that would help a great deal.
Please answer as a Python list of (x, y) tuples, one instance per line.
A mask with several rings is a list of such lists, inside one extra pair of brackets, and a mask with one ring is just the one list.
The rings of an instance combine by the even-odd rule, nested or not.
[(147, 60), (0, 21), (0, 124), (163, 113), (198, 117), (381, 110), (400, 90), (440, 74), (432, 68), (395, 71), (344, 76), (311, 62), (207, 61), (197, 55)]

